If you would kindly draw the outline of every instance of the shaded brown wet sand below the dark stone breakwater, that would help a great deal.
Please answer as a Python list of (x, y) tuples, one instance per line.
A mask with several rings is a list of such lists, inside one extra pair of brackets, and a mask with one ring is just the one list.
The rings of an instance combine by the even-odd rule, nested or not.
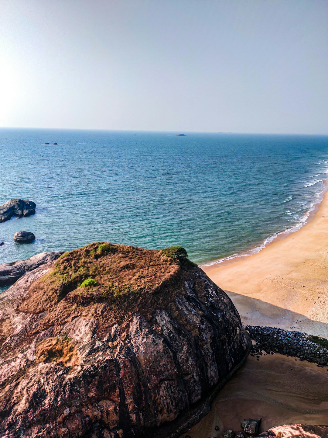
[(327, 368), (280, 354), (249, 356), (206, 417), (181, 437), (218, 437), (228, 429), (241, 431), (244, 418), (261, 417), (261, 431), (291, 423), (328, 424)]

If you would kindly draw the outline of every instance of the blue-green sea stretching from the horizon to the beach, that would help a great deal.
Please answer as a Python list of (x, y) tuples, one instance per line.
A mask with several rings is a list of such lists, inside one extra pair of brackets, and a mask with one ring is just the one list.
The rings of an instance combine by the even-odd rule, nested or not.
[(174, 134), (0, 129), (0, 204), (37, 204), (0, 224), (0, 263), (108, 240), (181, 244), (202, 264), (260, 248), (320, 198), (328, 136)]

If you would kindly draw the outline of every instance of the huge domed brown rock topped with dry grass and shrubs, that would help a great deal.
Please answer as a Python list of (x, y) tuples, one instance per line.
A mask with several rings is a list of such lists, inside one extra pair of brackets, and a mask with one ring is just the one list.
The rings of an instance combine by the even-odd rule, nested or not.
[(0, 294), (0, 436), (178, 437), (250, 344), (183, 251), (70, 251)]

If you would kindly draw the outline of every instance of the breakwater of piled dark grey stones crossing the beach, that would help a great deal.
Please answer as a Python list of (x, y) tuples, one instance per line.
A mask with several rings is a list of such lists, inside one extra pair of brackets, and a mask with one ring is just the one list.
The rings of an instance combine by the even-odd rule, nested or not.
[[(328, 348), (313, 342), (311, 336), (302, 332), (290, 332), (276, 327), (246, 325), (251, 339), (255, 340), (252, 354), (280, 353), (313, 362), (322, 367), (328, 366)], [(325, 339), (321, 338), (322, 341)]]

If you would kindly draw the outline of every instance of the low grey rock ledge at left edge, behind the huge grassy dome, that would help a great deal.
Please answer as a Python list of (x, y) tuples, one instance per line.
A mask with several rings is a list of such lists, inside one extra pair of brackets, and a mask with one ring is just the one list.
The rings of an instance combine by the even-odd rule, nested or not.
[(64, 251), (49, 251), (36, 254), (27, 260), (13, 261), (0, 265), (0, 286), (14, 284), (26, 272), (33, 271), (49, 261), (57, 260)]

